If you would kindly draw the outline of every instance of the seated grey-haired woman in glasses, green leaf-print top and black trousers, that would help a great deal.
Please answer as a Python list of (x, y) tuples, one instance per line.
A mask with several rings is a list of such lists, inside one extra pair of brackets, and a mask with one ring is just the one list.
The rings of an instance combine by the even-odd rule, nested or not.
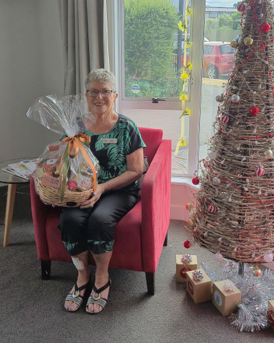
[(88, 314), (105, 307), (110, 291), (108, 265), (112, 257), (116, 223), (136, 204), (138, 179), (143, 170), (143, 147), (136, 124), (113, 110), (118, 94), (114, 74), (91, 71), (85, 81), (88, 109), (95, 121), (85, 121), (90, 150), (101, 167), (92, 198), (77, 208), (63, 208), (59, 228), (66, 250), (78, 271), (77, 283), (64, 307), (76, 311), (90, 279), (88, 250), (95, 260), (95, 281), (86, 304)]

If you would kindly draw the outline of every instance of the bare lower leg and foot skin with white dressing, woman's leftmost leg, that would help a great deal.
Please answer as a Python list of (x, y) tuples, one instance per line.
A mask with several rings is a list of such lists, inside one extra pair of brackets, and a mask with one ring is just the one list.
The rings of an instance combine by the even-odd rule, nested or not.
[[(72, 256), (71, 258), (78, 270), (77, 287), (79, 288), (83, 285), (86, 285), (86, 283), (88, 283), (90, 279), (90, 269), (88, 267), (88, 250), (80, 253), (79, 255)], [(71, 289), (70, 293), (73, 293), (73, 291), (75, 290), (74, 288), (75, 287), (73, 286), (73, 289)], [(82, 291), (80, 291), (80, 296), (84, 296), (85, 290), (86, 289), (82, 289)], [(65, 301), (64, 307), (69, 311), (75, 311), (75, 309), (77, 309), (77, 305), (71, 300)]]

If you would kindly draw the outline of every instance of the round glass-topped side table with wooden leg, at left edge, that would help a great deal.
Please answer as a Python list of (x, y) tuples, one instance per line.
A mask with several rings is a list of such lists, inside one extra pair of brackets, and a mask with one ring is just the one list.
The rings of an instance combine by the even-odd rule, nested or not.
[(18, 163), (24, 160), (33, 160), (34, 157), (26, 157), (26, 158), (14, 158), (10, 161), (3, 161), (0, 163), (0, 183), (4, 183), (8, 185), (8, 194), (7, 194), (7, 202), (5, 206), (5, 230), (4, 230), (4, 241), (3, 246), (8, 246), (10, 241), (10, 227), (12, 226), (12, 214), (14, 208), (14, 199), (16, 193), (16, 185), (29, 183), (29, 180), (25, 180), (25, 178), (19, 178), (13, 174), (8, 173), (7, 171), (3, 171), (2, 168), (8, 167), (10, 163)]

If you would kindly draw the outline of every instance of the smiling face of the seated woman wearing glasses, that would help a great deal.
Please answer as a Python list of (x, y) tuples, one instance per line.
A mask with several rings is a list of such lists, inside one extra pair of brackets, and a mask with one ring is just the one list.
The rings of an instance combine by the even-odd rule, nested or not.
[[(112, 91), (110, 82), (92, 81), (88, 85), (90, 91)], [(96, 97), (90, 97), (89, 92), (86, 92), (86, 100), (88, 109), (92, 115), (103, 115), (104, 113), (112, 113), (113, 105), (116, 102), (118, 94), (111, 93), (110, 97), (103, 97), (102, 93), (98, 93)]]

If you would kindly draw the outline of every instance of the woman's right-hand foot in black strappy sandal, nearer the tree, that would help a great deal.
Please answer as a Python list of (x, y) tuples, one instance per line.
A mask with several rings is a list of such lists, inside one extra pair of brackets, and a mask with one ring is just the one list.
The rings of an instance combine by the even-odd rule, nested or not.
[[(102, 309), (105, 307), (105, 304), (108, 300), (108, 294), (110, 292), (110, 277), (108, 276), (107, 279), (105, 278), (97, 278), (95, 279), (95, 287), (92, 288), (92, 292), (90, 294), (90, 298), (92, 300), (95, 300), (95, 303), (90, 303), (86, 306), (86, 311), (90, 314), (98, 314), (102, 311)], [(105, 288), (100, 292), (100, 288)], [(98, 293), (96, 292), (98, 291)], [(88, 300), (90, 300), (88, 298)], [(98, 303), (97, 303), (98, 298)], [(100, 302), (103, 302), (102, 305), (99, 305)]]

